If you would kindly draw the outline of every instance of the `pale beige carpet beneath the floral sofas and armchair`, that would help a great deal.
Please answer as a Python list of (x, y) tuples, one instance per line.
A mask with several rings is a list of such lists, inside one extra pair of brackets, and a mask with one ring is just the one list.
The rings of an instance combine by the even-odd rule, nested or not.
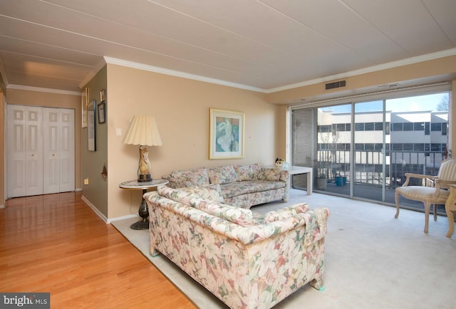
[[(266, 213), (298, 201), (331, 210), (326, 235), (326, 289), (304, 286), (274, 308), (456, 308), (456, 234), (445, 237), (447, 217), (424, 214), (292, 189), (289, 203), (252, 207)], [(149, 256), (147, 231), (134, 231), (138, 219), (112, 224), (199, 308), (224, 304), (173, 263)]]

